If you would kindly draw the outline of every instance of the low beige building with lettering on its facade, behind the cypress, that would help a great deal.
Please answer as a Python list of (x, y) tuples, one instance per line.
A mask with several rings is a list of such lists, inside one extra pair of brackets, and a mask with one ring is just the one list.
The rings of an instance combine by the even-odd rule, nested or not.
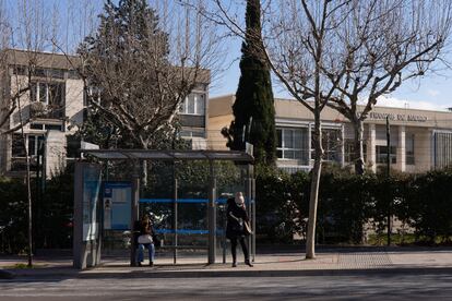
[[(226, 148), (221, 130), (234, 119), (234, 95), (210, 99), (211, 148)], [(313, 165), (313, 117), (299, 101), (275, 99), (277, 166), (289, 172)], [(386, 116), (390, 120), (390, 161), (402, 172), (424, 172), (452, 165), (452, 112), (376, 107), (364, 124), (366, 168), (386, 166)], [(354, 129), (337, 111), (325, 107), (321, 115), (324, 161), (353, 167)]]

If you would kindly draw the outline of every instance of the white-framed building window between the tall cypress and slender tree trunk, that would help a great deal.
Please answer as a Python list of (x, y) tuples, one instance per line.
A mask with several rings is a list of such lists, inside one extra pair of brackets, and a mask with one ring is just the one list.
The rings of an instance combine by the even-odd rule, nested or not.
[(300, 160), (308, 165), (308, 129), (276, 129), (276, 136), (279, 159)]

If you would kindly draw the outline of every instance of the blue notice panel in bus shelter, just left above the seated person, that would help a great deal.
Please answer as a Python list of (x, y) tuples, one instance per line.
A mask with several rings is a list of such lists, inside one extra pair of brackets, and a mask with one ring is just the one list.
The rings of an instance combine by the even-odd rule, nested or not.
[(130, 182), (104, 182), (104, 229), (131, 229), (131, 200), (132, 184)]

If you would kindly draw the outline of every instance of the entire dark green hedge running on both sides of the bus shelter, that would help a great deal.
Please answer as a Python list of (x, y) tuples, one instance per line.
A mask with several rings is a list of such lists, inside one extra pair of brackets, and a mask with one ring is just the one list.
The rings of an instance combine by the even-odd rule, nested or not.
[[(191, 191), (205, 191), (204, 166), (185, 184), (198, 183)], [(238, 182), (237, 172), (223, 166), (218, 185)], [(236, 174), (236, 176), (235, 176)], [(160, 174), (162, 176), (162, 174)], [(190, 179), (191, 180), (190, 180)], [(236, 179), (237, 178), (237, 179)], [(155, 188), (166, 185), (155, 183)], [(35, 183), (32, 184), (36, 188)], [(293, 242), (295, 233), (306, 236), (310, 176), (288, 174), (275, 168), (257, 167), (257, 234), (267, 242)], [(154, 193), (158, 192), (154, 190)], [(144, 193), (144, 192), (143, 192)], [(158, 194), (158, 193), (157, 193)], [(33, 193), (36, 195), (36, 193)], [(193, 196), (193, 195), (188, 195)], [(194, 195), (197, 196), (197, 195)], [(203, 196), (203, 195), (202, 195)], [(72, 170), (47, 181), (46, 193), (34, 207), (35, 248), (71, 248), (73, 213)], [(24, 252), (27, 239), (26, 190), (23, 182), (0, 178), (0, 253)], [(452, 170), (421, 174), (355, 176), (325, 168), (321, 177), (317, 241), (320, 243), (361, 243), (365, 226), (384, 233), (388, 214), (412, 227), (415, 240), (450, 243), (452, 238)]]

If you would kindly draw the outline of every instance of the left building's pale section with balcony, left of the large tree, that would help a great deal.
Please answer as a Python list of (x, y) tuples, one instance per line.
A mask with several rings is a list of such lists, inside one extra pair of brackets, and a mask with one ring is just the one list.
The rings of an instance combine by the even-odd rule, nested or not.
[[(11, 95), (31, 89), (20, 99), (24, 125), (25, 147), (36, 165), (38, 154), (46, 154), (43, 172), (50, 176), (66, 165), (67, 136), (74, 133), (76, 124), (83, 122), (83, 81), (72, 70), (68, 59), (61, 55), (5, 50), (1, 69), (1, 120), (12, 108)], [(71, 58), (76, 62), (76, 58)], [(34, 68), (28, 79), (29, 68)], [(21, 177), (25, 171), (25, 149), (20, 128), (20, 112), (13, 111), (3, 124), (3, 131), (11, 131), (0, 137), (0, 172)], [(17, 129), (14, 131), (14, 129)], [(45, 142), (45, 143), (44, 143)]]

